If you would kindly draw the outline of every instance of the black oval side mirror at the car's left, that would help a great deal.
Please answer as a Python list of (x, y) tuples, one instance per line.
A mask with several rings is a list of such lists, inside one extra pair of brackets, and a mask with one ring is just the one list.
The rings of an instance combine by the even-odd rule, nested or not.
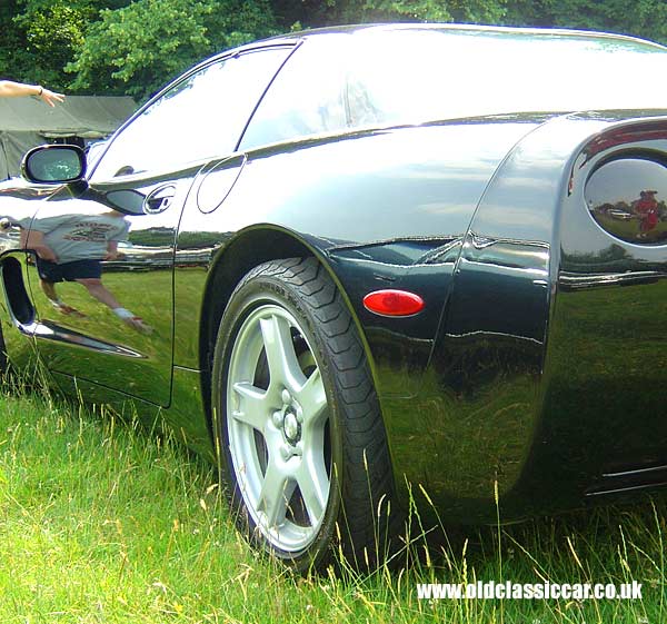
[(86, 174), (86, 155), (78, 146), (36, 147), (23, 157), (21, 174), (37, 184), (76, 182)]

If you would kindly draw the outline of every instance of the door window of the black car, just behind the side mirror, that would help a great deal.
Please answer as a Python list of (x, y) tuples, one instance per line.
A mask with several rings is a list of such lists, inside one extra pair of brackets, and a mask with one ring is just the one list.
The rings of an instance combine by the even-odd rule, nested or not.
[(291, 49), (252, 50), (187, 76), (113, 139), (91, 181), (176, 169), (232, 152)]

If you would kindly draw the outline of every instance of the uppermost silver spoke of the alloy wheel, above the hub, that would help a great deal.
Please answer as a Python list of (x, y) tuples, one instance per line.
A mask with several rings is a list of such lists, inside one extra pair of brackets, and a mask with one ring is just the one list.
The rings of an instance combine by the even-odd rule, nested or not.
[(305, 376), (295, 353), (289, 324), (286, 319), (273, 315), (270, 318), (262, 318), (260, 326), (271, 385), (281, 384), (296, 392), (303, 385)]

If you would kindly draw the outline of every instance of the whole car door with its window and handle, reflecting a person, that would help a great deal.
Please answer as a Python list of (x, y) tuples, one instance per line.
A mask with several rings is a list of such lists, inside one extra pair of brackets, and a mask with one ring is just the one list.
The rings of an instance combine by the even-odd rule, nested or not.
[(186, 75), (118, 132), (88, 184), (64, 186), (40, 206), (28, 277), (50, 370), (169, 404), (185, 200), (202, 167), (233, 155), (290, 51), (249, 49)]

